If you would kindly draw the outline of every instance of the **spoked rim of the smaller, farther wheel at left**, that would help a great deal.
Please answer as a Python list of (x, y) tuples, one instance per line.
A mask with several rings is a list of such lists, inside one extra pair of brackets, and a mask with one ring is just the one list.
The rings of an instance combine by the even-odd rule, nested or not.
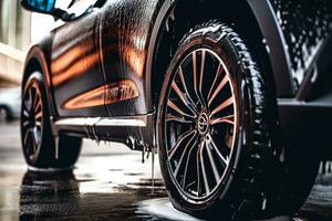
[[(38, 134), (38, 139), (39, 139), (39, 143), (35, 145), (35, 144), (32, 144), (31, 140), (27, 141), (27, 143), (30, 143), (29, 145), (30, 146), (27, 146), (24, 144), (24, 136), (27, 135), (27, 133), (30, 133), (30, 138), (28, 139), (31, 139), (31, 136), (33, 136), (33, 134), (31, 131), (29, 131), (32, 127), (29, 126), (29, 127), (24, 127), (23, 126), (23, 118), (25, 118), (25, 120), (29, 120), (29, 124), (30, 124), (30, 120), (29, 119), (31, 117), (31, 109), (29, 113), (29, 116), (24, 116), (23, 112), (24, 110), (28, 110), (27, 109), (27, 106), (25, 106), (25, 102), (28, 99), (28, 93), (30, 90), (34, 88), (34, 96), (38, 96), (38, 101), (37, 101), (37, 105), (39, 104), (39, 102), (41, 103), (40, 104), (40, 110), (38, 113), (35, 113), (35, 107), (33, 107), (33, 104), (31, 104), (31, 107), (30, 108), (33, 108), (33, 112), (34, 112), (34, 128), (37, 128), (35, 126), (35, 122), (39, 122), (40, 123), (40, 129), (39, 129), (39, 134)], [(24, 156), (25, 156), (25, 159), (29, 161), (29, 162), (34, 162), (37, 159), (38, 159), (38, 156), (39, 156), (39, 152), (40, 152), (40, 147), (41, 147), (41, 141), (42, 141), (42, 134), (43, 134), (43, 126), (44, 126), (44, 117), (43, 117), (43, 102), (42, 102), (42, 94), (41, 94), (41, 91), (40, 91), (40, 87), (39, 87), (39, 83), (38, 83), (38, 80), (35, 78), (31, 78), (28, 83), (27, 83), (27, 86), (24, 87), (23, 90), (23, 94), (22, 94), (22, 108), (21, 108), (21, 141), (22, 141), (22, 148), (23, 148), (23, 152), (24, 152)], [(33, 96), (33, 97), (34, 97)], [(31, 101), (33, 103), (33, 101)], [(35, 119), (35, 114), (39, 114), (41, 113), (41, 119), (40, 120), (37, 120)], [(35, 133), (35, 131), (34, 131)], [(33, 145), (35, 145), (33, 147)], [(34, 150), (35, 149), (35, 150)]]

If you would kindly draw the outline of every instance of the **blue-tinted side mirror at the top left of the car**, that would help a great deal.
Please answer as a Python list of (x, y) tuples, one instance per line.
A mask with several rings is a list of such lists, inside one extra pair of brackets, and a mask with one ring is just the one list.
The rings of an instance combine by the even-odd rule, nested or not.
[(29, 11), (52, 14), (55, 0), (22, 0), (21, 4)]

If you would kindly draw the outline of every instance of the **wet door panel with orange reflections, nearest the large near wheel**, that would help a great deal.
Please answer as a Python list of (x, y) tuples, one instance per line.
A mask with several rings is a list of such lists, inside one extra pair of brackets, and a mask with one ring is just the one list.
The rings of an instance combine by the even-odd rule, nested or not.
[(163, 0), (106, 1), (101, 17), (105, 106), (111, 117), (144, 115), (149, 31)]

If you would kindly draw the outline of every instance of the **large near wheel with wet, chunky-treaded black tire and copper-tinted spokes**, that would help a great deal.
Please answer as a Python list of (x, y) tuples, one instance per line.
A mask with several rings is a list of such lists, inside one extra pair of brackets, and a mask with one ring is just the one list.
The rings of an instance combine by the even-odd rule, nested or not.
[(227, 25), (207, 22), (184, 36), (162, 86), (156, 125), (162, 173), (176, 209), (222, 220), (270, 215), (280, 172), (264, 77)]

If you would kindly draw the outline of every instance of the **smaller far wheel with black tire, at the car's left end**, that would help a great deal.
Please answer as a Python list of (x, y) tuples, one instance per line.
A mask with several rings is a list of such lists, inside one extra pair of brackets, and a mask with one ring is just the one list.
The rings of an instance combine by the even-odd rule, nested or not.
[(23, 85), (21, 143), (27, 164), (33, 169), (69, 169), (76, 162), (82, 139), (52, 133), (43, 75), (32, 73)]

